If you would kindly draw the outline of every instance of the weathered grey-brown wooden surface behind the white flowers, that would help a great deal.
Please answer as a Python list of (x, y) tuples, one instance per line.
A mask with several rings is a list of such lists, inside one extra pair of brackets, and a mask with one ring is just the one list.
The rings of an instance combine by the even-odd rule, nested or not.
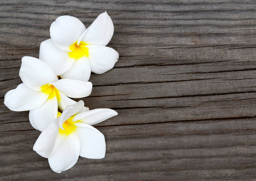
[[(90, 109), (106, 157), (79, 157), (56, 174), (32, 150), (40, 132), (4, 95), (39, 56), (50, 24), (68, 14), (88, 27), (109, 13), (115, 68), (92, 74)], [(0, 180), (256, 180), (256, 1), (0, 1)]]

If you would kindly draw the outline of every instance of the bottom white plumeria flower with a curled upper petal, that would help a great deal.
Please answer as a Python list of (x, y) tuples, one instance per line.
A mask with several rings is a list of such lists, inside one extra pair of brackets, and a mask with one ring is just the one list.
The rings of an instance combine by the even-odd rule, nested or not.
[[(59, 117), (50, 122), (36, 140), (33, 150), (48, 158), (56, 173), (76, 164), (78, 157), (101, 159), (105, 157), (104, 135), (91, 125), (118, 115), (112, 109), (94, 109), (81, 112), (84, 102), (68, 106)], [(78, 113), (78, 112), (81, 113)]]

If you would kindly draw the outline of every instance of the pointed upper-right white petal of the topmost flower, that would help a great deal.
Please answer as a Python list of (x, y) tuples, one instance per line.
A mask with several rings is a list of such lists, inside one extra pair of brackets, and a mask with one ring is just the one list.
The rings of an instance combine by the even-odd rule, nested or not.
[(107, 12), (99, 14), (92, 25), (87, 28), (81, 40), (90, 45), (106, 46), (114, 33), (114, 25)]

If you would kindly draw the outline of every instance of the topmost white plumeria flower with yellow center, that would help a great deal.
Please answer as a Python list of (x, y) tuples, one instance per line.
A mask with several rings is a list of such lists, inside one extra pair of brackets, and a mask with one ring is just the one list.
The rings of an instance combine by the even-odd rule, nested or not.
[(118, 61), (118, 52), (106, 46), (113, 31), (107, 12), (87, 29), (76, 17), (59, 16), (50, 26), (51, 39), (40, 45), (39, 59), (61, 78), (88, 81), (91, 71), (103, 74)]

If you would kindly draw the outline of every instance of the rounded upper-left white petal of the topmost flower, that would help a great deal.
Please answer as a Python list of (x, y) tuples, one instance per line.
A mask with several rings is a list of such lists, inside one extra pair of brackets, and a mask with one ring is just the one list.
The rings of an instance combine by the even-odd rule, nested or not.
[(58, 48), (70, 51), (81, 34), (86, 31), (84, 24), (73, 16), (59, 16), (50, 26), (50, 37)]

